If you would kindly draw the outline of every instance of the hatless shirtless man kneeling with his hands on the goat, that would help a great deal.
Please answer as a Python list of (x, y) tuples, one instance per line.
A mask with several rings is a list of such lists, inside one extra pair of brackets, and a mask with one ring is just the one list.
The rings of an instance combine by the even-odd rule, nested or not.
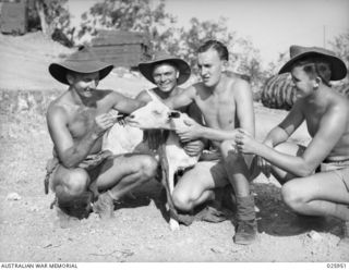
[(182, 142), (206, 138), (213, 142), (220, 158), (201, 161), (184, 173), (173, 191), (177, 208), (190, 211), (213, 199), (215, 187), (231, 184), (237, 198), (237, 244), (251, 244), (256, 238), (254, 198), (250, 193), (249, 168), (245, 158), (234, 149), (236, 128), (254, 134), (253, 99), (250, 85), (226, 75), (228, 50), (219, 41), (209, 40), (197, 50), (197, 63), (203, 82), (165, 101), (170, 108), (195, 103), (203, 113), (206, 126), (188, 122), (178, 130)]

